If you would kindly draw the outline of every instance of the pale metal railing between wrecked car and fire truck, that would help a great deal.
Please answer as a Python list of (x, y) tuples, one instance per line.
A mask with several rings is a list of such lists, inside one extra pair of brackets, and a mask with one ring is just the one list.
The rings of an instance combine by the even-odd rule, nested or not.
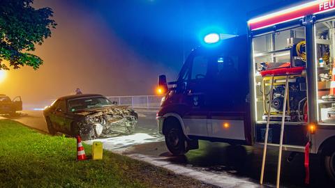
[(129, 105), (133, 108), (157, 109), (161, 107), (162, 96), (158, 95), (133, 95), (133, 96), (108, 96), (111, 102), (118, 105)]

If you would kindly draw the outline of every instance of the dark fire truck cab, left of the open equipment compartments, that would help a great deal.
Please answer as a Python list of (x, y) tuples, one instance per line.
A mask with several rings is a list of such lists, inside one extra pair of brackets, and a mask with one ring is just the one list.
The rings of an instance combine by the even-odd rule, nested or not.
[(186, 59), (158, 112), (158, 130), (174, 155), (198, 148), (198, 139), (250, 145), (249, 67), (246, 36), (198, 47)]

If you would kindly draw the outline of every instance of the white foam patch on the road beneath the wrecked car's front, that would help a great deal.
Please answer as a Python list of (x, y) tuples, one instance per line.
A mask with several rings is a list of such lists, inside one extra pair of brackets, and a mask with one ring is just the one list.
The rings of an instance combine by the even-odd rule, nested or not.
[(126, 148), (129, 146), (135, 146), (142, 143), (149, 143), (154, 141), (163, 141), (163, 137), (150, 136), (145, 133), (136, 133), (125, 136), (115, 136), (107, 139), (95, 139), (91, 141), (85, 141), (85, 143), (92, 144), (94, 141), (101, 141), (105, 150), (117, 150)]

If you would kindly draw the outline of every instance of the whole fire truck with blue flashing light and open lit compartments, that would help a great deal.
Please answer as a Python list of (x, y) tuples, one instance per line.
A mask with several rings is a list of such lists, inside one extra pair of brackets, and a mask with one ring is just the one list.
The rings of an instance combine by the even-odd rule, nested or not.
[(158, 131), (173, 155), (198, 140), (277, 148), (320, 156), (335, 180), (335, 2), (310, 1), (248, 21), (246, 36), (193, 49), (164, 93)]

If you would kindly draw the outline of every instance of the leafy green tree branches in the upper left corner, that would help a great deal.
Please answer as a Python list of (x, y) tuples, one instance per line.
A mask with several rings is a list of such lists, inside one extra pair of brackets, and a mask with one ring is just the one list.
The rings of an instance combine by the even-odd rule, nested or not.
[[(51, 29), (57, 24), (50, 17), (51, 8), (35, 9), (31, 7), (34, 0), (1, 0), (0, 1), (0, 70), (17, 69), (24, 65), (35, 70), (43, 60), (29, 54), (35, 45), (42, 45), (51, 37)], [(3, 63), (9, 62), (9, 66)]]

